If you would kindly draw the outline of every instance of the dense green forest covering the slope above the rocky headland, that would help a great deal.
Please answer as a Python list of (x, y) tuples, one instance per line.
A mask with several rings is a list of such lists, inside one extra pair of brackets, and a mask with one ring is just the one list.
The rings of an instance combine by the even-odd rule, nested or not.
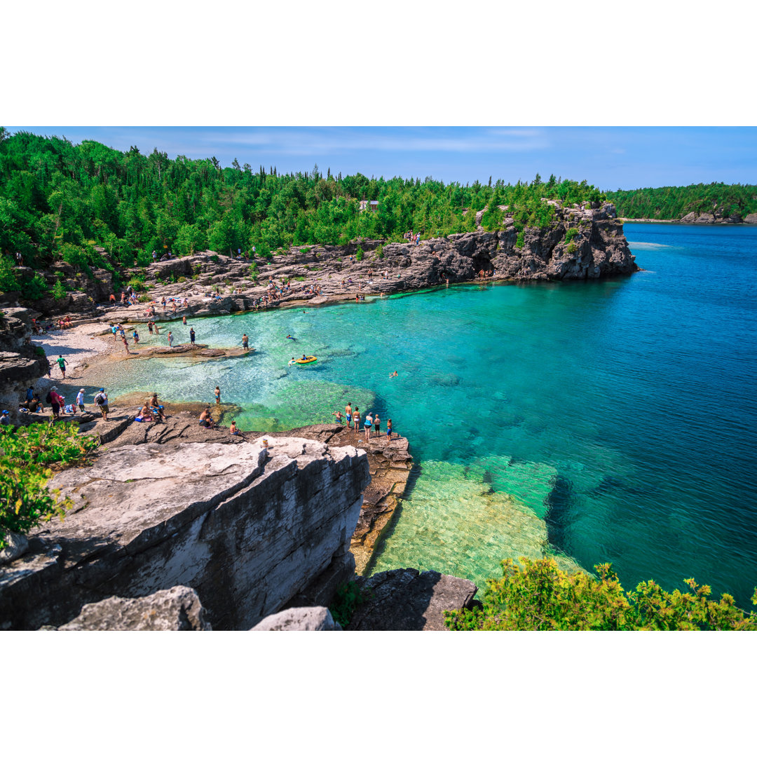
[[(241, 249), (271, 257), (291, 245), (340, 245), (355, 238), (401, 241), (409, 229), (422, 238), (475, 229), (475, 212), (489, 205), (482, 225), (500, 226), (512, 208), (516, 228), (544, 227), (553, 207), (540, 198), (568, 203), (604, 195), (586, 181), (556, 179), (482, 184), (425, 179), (368, 178), (326, 173), (279, 173), (249, 164), (221, 167), (215, 157), (171, 160), (157, 149), (121, 152), (86, 140), (0, 127), (0, 290), (13, 285), (11, 266), (42, 269), (64, 260), (89, 273), (90, 266), (145, 266), (152, 252), (188, 255), (210, 249)], [(378, 201), (360, 212), (361, 200)], [(95, 248), (104, 248), (105, 254)], [(42, 296), (41, 276), (26, 279), (22, 294)]]

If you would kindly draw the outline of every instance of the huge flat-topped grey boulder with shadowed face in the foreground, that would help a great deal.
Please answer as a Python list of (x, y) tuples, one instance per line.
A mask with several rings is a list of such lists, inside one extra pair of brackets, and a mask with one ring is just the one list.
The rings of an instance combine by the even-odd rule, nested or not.
[(129, 445), (58, 473), (50, 487), (76, 504), (0, 568), (3, 628), (64, 625), (84, 604), (185, 585), (213, 628), (247, 630), (330, 565), (344, 569), (366, 454), (269, 444)]

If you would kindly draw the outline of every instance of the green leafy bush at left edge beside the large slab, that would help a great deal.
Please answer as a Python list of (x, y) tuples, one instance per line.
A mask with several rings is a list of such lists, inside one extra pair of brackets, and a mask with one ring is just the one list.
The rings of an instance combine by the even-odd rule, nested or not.
[(26, 534), (42, 520), (62, 518), (73, 504), (46, 488), (53, 471), (44, 465), (81, 463), (97, 446), (96, 438), (79, 435), (75, 425), (0, 428), (0, 550), (10, 531)]

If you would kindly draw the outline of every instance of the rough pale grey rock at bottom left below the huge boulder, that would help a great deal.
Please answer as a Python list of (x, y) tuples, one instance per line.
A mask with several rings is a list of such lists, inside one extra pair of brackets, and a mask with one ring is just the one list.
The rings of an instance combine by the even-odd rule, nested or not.
[(174, 586), (148, 597), (110, 597), (85, 605), (58, 631), (211, 631), (200, 597), (188, 586)]

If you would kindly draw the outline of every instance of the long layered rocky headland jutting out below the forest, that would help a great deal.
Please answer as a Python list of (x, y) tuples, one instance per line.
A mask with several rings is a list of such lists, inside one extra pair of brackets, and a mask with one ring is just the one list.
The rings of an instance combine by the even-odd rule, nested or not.
[[(170, 304), (158, 304), (154, 315), (148, 313), (148, 305), (163, 298), (187, 299), (188, 307), (180, 309), (179, 316), (223, 315), (256, 307), (354, 300), (356, 294), (396, 294), (447, 282), (599, 279), (639, 269), (614, 205), (562, 207), (559, 201), (545, 202), (553, 206), (553, 223), (545, 229), (526, 227), (520, 235), (512, 217), (505, 218), (501, 230), (484, 231), (484, 210), (479, 210), (477, 230), (424, 239), (419, 245), (359, 239), (341, 247), (301, 245), (280, 250), (270, 259), (253, 260), (207, 250), (146, 268), (123, 269), (124, 281), (142, 279), (136, 286), (142, 302), (130, 307), (107, 304), (114, 291), (110, 271), (96, 269), (90, 279), (67, 263), (56, 263), (45, 276), (51, 284), (60, 280), (69, 294), (29, 305), (45, 316), (70, 313), (74, 324), (93, 317), (100, 322), (147, 322), (176, 318)], [(506, 206), (503, 209), (506, 212)], [(31, 269), (28, 273), (33, 275)], [(286, 280), (289, 289), (266, 302), (270, 280), (277, 285)]]

